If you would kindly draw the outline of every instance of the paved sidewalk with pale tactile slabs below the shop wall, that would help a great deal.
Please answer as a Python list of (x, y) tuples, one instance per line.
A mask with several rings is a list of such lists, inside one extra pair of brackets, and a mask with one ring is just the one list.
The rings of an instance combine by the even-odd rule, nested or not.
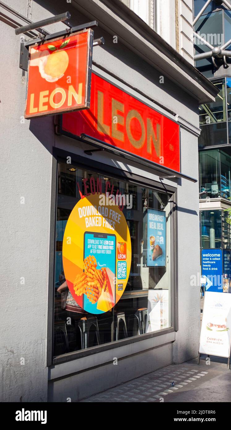
[[(174, 386), (171, 383), (174, 381)], [(227, 359), (202, 356), (169, 365), (96, 394), (81, 402), (231, 402), (231, 370)]]

